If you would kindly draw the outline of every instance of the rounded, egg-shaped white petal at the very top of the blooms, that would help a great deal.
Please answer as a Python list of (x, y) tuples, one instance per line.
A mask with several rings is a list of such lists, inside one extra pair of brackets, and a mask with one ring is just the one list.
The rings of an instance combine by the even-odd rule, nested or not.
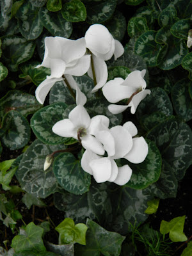
[(90, 26), (84, 35), (84, 39), (86, 40), (86, 47), (96, 56), (97, 52), (106, 54), (111, 49), (111, 34), (101, 24)]

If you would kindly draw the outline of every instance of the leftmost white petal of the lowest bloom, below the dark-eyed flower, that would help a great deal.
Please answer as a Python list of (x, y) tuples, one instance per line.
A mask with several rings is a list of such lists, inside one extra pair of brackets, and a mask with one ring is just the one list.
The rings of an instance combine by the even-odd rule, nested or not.
[(92, 168), (90, 167), (90, 162), (100, 158), (102, 157), (94, 154), (91, 150), (85, 150), (81, 158), (81, 167), (83, 168), (84, 172), (88, 172), (93, 175)]

